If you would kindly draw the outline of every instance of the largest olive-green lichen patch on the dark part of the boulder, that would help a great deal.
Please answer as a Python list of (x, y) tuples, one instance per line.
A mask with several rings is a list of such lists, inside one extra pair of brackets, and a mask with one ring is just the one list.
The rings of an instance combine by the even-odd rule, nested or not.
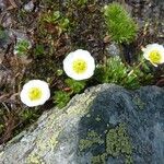
[(110, 129), (106, 134), (106, 152), (114, 157), (125, 155), (126, 164), (132, 163), (132, 144), (127, 134), (125, 124)]

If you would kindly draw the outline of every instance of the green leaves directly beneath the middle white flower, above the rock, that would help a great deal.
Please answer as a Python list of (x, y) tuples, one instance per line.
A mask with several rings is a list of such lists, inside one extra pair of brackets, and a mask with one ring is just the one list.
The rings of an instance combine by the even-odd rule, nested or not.
[(85, 81), (67, 79), (65, 82), (72, 90), (73, 93), (80, 93), (85, 87)]

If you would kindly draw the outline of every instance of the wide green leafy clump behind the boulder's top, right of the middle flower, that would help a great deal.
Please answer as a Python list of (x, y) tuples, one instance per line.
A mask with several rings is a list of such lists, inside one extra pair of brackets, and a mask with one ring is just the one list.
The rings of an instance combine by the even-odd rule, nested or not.
[(101, 83), (116, 83), (127, 89), (138, 89), (143, 80), (147, 82), (152, 80), (148, 70), (126, 66), (119, 57), (108, 58), (106, 65), (99, 65), (96, 68), (95, 78)]

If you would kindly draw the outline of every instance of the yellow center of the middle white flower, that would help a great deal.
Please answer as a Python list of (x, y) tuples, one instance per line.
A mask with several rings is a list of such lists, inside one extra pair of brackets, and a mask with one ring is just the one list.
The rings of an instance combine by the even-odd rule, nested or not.
[(73, 71), (78, 74), (85, 72), (87, 69), (86, 61), (83, 59), (77, 59), (73, 61)]

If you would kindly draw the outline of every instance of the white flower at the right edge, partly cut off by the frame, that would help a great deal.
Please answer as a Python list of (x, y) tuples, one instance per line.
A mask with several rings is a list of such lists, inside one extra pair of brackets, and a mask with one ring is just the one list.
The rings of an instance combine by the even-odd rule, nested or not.
[(159, 44), (150, 44), (147, 45), (145, 48), (142, 49), (143, 56), (147, 60), (149, 60), (153, 66), (157, 67), (157, 65), (164, 63), (164, 47)]

